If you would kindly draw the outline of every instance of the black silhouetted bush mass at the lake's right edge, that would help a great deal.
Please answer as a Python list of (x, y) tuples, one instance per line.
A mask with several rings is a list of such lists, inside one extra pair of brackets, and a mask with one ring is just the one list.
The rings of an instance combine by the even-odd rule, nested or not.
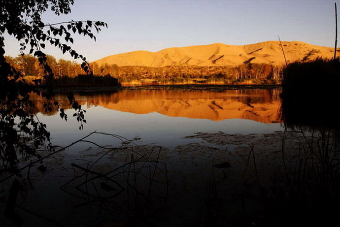
[(283, 122), (289, 126), (340, 128), (340, 59), (295, 62), (283, 69)]

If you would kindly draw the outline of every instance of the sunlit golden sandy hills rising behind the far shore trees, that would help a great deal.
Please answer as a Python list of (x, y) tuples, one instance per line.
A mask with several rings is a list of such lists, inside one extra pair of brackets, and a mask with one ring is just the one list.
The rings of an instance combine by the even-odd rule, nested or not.
[[(334, 48), (315, 46), (300, 41), (282, 42), (288, 62), (312, 60), (316, 57), (332, 58)], [(340, 48), (338, 48), (340, 51)], [(266, 41), (236, 46), (223, 43), (173, 47), (158, 52), (134, 51), (111, 55), (95, 61), (99, 65), (139, 65), (163, 67), (168, 65), (236, 66), (245, 63), (284, 64), (279, 41)]]

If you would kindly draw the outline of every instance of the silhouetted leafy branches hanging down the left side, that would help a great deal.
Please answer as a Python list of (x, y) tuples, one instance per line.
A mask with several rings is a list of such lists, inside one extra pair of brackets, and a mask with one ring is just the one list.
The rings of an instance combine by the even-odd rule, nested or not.
[[(45, 24), (40, 15), (48, 9), (55, 14), (67, 14), (73, 0), (0, 0), (0, 174), (3, 172), (15, 173), (18, 171), (18, 155), (23, 159), (37, 156), (39, 146), (49, 144), (50, 133), (46, 125), (39, 122), (34, 114), (34, 104), (30, 100), (32, 93), (40, 94), (45, 98), (46, 111), (52, 107), (59, 108), (53, 99), (52, 68), (47, 64), (47, 57), (43, 53), (46, 43), (58, 47), (63, 53), (68, 52), (74, 59), (81, 59), (81, 67), (91, 73), (86, 58), (73, 50), (68, 43), (73, 43), (70, 32), (77, 32), (84, 36), (96, 39), (92, 29), (97, 32), (107, 25), (97, 21), (69, 21), (56, 24)], [(44, 69), (44, 91), (35, 89), (34, 85), (25, 83), (23, 75), (10, 65), (4, 55), (4, 32), (15, 37), (20, 42), (20, 52), (24, 55), (27, 47), (30, 54), (34, 54), (39, 65)], [(41, 85), (40, 79), (34, 80), (35, 85)], [(83, 127), (84, 111), (74, 99), (73, 94), (68, 95), (69, 104), (76, 111), (74, 114)], [(64, 109), (59, 109), (60, 116), (67, 120)]]

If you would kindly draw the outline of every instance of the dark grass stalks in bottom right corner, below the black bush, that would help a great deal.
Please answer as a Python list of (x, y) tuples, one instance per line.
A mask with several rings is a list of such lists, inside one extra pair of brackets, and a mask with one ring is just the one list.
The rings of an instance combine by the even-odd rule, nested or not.
[[(317, 130), (305, 136), (299, 154), (289, 160), (296, 163), (295, 168), (285, 166), (286, 179), (276, 179), (273, 173), (267, 210), (276, 226), (328, 226), (338, 221), (340, 141), (334, 132)], [(284, 153), (285, 142), (283, 163), (288, 161)], [(279, 183), (282, 180), (284, 183)]]

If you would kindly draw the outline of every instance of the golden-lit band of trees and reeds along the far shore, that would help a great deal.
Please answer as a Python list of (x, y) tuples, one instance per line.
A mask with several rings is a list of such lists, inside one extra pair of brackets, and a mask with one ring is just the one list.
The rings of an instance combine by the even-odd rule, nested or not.
[[(25, 82), (44, 81), (45, 72), (36, 58), (31, 55), (6, 57), (7, 62), (19, 70)], [(322, 58), (311, 61), (300, 61), (289, 64), (311, 65), (313, 63), (329, 62)], [(90, 64), (93, 74), (82, 74), (82, 69), (76, 62), (47, 55), (47, 63), (54, 73), (54, 78), (48, 83), (56, 88), (79, 87), (131, 87), (131, 86), (173, 86), (173, 85), (227, 85), (227, 86), (280, 86), (284, 80), (283, 65), (252, 64), (238, 66), (118, 66)], [(306, 83), (308, 77), (304, 77)], [(100, 89), (107, 90), (107, 89)]]

